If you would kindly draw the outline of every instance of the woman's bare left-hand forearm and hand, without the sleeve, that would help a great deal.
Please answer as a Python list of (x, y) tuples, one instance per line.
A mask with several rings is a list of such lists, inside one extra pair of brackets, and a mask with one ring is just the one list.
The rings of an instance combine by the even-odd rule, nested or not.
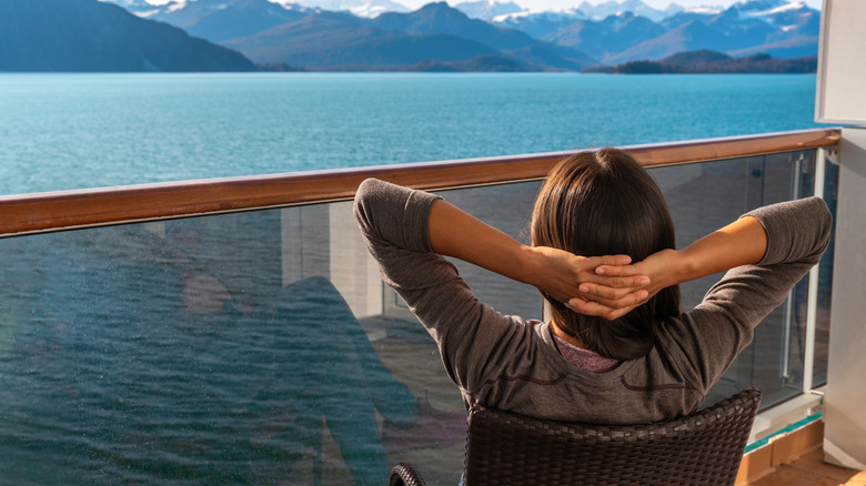
[[(552, 247), (526, 246), (442, 200), (433, 203), (427, 226), (434, 252), (533, 285), (560, 302), (585, 295), (580, 292), (582, 283), (605, 287), (605, 296), (594, 295), (593, 302), (581, 305), (584, 314), (606, 316), (647, 296), (644, 287), (650, 280), (628, 265), (627, 255), (585, 257)], [(600, 265), (621, 269), (616, 276), (605, 276), (595, 272)]]

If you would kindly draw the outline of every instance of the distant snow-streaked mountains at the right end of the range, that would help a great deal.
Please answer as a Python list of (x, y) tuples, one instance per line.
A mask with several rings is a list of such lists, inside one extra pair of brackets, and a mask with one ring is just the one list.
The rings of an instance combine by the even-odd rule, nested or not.
[(703, 49), (734, 57), (817, 55), (820, 12), (802, 1), (751, 0), (727, 9), (672, 4), (661, 12), (641, 0), (626, 0), (621, 7), (631, 10), (598, 19), (598, 9), (610, 3), (595, 6), (594, 10), (584, 2), (585, 10), (517, 12), (495, 17), (491, 22), (582, 50), (604, 64), (657, 60)]

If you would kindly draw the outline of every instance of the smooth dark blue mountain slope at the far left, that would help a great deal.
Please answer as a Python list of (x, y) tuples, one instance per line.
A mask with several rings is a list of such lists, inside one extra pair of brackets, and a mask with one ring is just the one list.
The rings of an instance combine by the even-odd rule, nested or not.
[(94, 0), (0, 1), (0, 71), (253, 71), (242, 54)]

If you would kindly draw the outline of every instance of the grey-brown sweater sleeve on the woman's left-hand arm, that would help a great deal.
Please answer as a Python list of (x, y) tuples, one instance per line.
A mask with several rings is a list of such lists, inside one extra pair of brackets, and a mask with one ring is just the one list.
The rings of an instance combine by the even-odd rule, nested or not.
[(456, 267), (432, 251), (427, 220), (437, 199), (369, 179), (354, 212), (384, 282), (436, 341), (451, 379), (472, 394), (516, 353), (526, 326), (481, 303)]

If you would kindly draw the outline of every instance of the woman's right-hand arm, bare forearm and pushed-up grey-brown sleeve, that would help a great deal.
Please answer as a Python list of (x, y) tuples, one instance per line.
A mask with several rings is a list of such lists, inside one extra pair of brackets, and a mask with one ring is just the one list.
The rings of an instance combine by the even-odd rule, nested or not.
[(693, 385), (706, 389), (731, 366), (754, 327), (820, 261), (830, 227), (824, 201), (806, 198), (759, 207), (682, 251), (635, 264), (652, 292), (729, 269), (697, 306), (656, 327), (658, 345)]

